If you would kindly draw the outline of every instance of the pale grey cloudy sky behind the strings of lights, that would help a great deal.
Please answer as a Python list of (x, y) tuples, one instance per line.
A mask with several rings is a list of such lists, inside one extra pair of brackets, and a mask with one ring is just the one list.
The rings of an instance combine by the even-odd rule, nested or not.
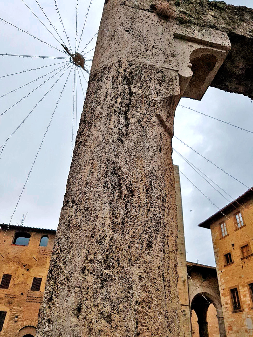
[[(49, 28), (50, 24), (46, 21), (44, 14), (36, 2), (34, 0), (26, 0), (25, 2)], [(84, 0), (78, 4), (77, 44), (79, 41), (78, 37), (80, 37), (83, 29), (89, 2), (89, 0)], [(101, 0), (94, 0), (90, 7), (79, 51), (83, 50), (99, 27), (103, 2)], [(230, 0), (227, 3), (252, 6), (251, 0)], [(74, 3), (72, 1), (61, 0), (57, 4), (70, 39), (70, 44), (74, 48), (76, 16)], [(67, 44), (66, 35), (54, 7), (54, 1), (41, 0), (40, 5), (45, 10), (65, 44)], [(58, 47), (60, 50), (62, 49), (60, 44), (33, 16), (22, 1), (12, 0), (6, 2), (5, 0), (0, 0), (0, 8), (2, 19)], [(65, 57), (60, 51), (47, 47), (44, 43), (36, 41), (25, 33), (18, 32), (17, 29), (8, 24), (0, 22), (0, 29), (0, 53)], [(51, 31), (60, 39), (53, 29)], [(95, 47), (95, 39), (89, 44), (85, 52), (93, 47)], [(87, 56), (92, 55), (93, 52), (87, 54)], [(63, 61), (61, 59), (23, 59), (0, 56), (0, 76)], [(61, 65), (2, 78), (0, 80), (0, 96), (35, 80)], [(87, 61), (87, 67), (89, 65), (91, 65), (91, 61)], [(43, 79), (35, 81), (29, 86), (1, 97), (0, 114), (59, 70), (45, 76)], [(53, 87), (54, 90), (49, 92), (42, 102), (38, 104), (22, 127), (10, 138), (3, 150), (0, 158), (0, 223), (9, 223), (10, 221), (69, 70), (65, 72)], [(50, 89), (62, 72), (0, 117), (0, 146), (34, 108), (46, 91)], [(25, 220), (26, 226), (57, 228), (71, 161), (73, 75), (72, 71), (18, 208), (12, 218), (12, 224), (20, 224), (22, 215), (28, 212)], [(88, 80), (87, 75), (86, 79)], [(81, 81), (83, 89), (86, 91), (87, 85), (82, 75)], [(78, 120), (82, 112), (84, 100), (78, 74), (77, 82)], [(181, 99), (180, 104), (253, 131), (253, 103), (249, 98), (242, 95), (209, 88), (200, 102), (184, 98)], [(76, 135), (75, 125), (76, 119), (74, 118), (74, 137)], [(221, 166), (245, 185), (249, 187), (253, 185), (251, 133), (246, 133), (198, 113), (178, 107), (175, 118), (175, 135), (218, 166)], [(175, 138), (173, 139), (173, 147), (233, 198), (236, 198), (247, 190), (245, 186), (229, 178)], [(179, 165), (180, 170), (219, 208), (228, 204), (228, 201), (199, 177), (176, 152), (173, 153), (173, 162)], [(218, 209), (182, 175), (181, 189), (187, 259), (188, 261), (196, 262), (196, 258), (198, 258), (199, 263), (215, 265), (210, 230), (199, 228), (197, 225)], [(232, 201), (228, 196), (227, 198), (229, 201)]]

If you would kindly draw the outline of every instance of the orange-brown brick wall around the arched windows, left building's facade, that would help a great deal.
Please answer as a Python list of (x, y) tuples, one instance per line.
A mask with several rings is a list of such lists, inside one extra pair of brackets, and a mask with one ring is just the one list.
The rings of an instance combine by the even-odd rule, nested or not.
[[(12, 244), (21, 230), (31, 235), (28, 246)], [(39, 246), (42, 235), (49, 237), (47, 247)], [(0, 288), (0, 311), (6, 312), (1, 337), (35, 336), (54, 236), (55, 231), (46, 229), (1, 225), (0, 282), (3, 274), (11, 275), (9, 287)], [(34, 277), (42, 278), (39, 291), (31, 290)]]

